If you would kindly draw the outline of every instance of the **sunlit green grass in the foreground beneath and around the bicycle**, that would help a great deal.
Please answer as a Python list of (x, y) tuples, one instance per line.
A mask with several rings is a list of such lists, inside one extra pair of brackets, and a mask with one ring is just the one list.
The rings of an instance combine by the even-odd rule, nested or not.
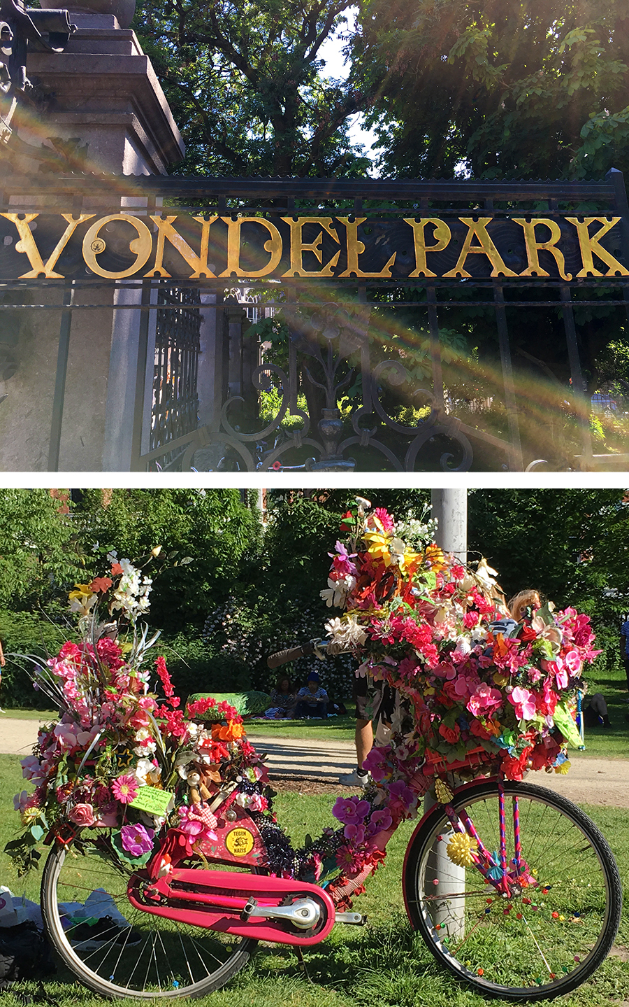
[[(13, 794), (22, 788), (19, 759), (0, 756), (0, 849), (12, 838), (17, 818), (12, 812)], [(297, 842), (306, 832), (319, 831), (332, 823), (329, 797), (284, 794), (277, 799), (280, 821)], [(629, 830), (627, 811), (588, 808), (614, 850), (623, 882), (629, 881)], [(366, 912), (364, 927), (337, 926), (322, 945), (305, 951), (308, 979), (298, 968), (289, 949), (261, 947), (253, 964), (239, 973), (221, 991), (198, 1001), (207, 1007), (481, 1007), (486, 1001), (452, 979), (433, 960), (416, 938), (404, 913), (400, 877), (404, 853), (413, 823), (405, 823), (394, 836), (386, 863), (367, 883), (367, 892), (355, 907)], [(39, 872), (19, 881), (10, 861), (0, 853), (0, 882), (14, 892), (37, 899)], [(629, 914), (625, 910), (617, 940), (626, 958), (629, 948)], [(19, 989), (20, 987), (18, 987)], [(45, 983), (58, 1007), (103, 1005), (106, 1001), (78, 986), (59, 972)], [(565, 997), (565, 1007), (609, 1007), (629, 1001), (629, 969), (623, 957), (613, 956), (586, 985)], [(125, 1001), (131, 1004), (133, 1001)], [(138, 1003), (138, 1001), (135, 1001)], [(493, 1001), (500, 1005), (504, 1001)], [(3, 1007), (22, 1007), (10, 992), (3, 993)]]

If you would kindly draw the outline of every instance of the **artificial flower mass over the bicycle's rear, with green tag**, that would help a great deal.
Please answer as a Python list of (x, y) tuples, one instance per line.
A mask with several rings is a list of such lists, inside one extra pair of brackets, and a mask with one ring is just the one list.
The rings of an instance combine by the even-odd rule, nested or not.
[[(266, 780), (232, 707), (199, 700), (184, 715), (163, 657), (154, 663), (158, 692), (150, 690), (150, 649), (159, 633), (147, 638), (139, 619), (151, 580), (128, 560), (109, 558), (110, 575), (69, 594), (81, 642), (65, 642), (45, 663), (31, 659), (34, 684), (59, 717), (40, 728), (22, 761), (35, 789), (14, 799), (24, 828), (6, 847), (21, 871), (36, 863), (37, 844), (50, 835), (70, 843), (90, 837), (121, 862), (141, 866), (171, 827), (191, 852), (216, 838), (210, 797), (233, 789), (237, 777)], [(131, 643), (118, 641), (114, 616), (128, 623)], [(262, 807), (264, 799), (256, 800)]]

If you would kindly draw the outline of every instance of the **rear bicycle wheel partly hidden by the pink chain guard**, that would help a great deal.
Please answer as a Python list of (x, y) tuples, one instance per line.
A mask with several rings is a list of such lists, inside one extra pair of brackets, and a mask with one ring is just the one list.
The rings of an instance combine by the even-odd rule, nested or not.
[[(106, 997), (136, 1000), (201, 997), (220, 989), (247, 965), (257, 941), (228, 939), (136, 909), (127, 898), (128, 876), (123, 865), (90, 848), (84, 854), (55, 845), (46, 859), (41, 878), (45, 932), (63, 965), (85, 986)], [(73, 920), (71, 911), (59, 907), (85, 902), (89, 892), (97, 897), (90, 899), (88, 911), (97, 917), (113, 913), (115, 923), (101, 924), (101, 934), (94, 937), (89, 923)]]

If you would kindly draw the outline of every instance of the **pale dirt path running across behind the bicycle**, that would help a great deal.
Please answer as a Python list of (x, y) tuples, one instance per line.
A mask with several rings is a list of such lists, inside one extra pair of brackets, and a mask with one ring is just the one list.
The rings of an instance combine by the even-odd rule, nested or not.
[[(28, 755), (37, 737), (36, 720), (0, 716), (0, 753)], [(308, 793), (338, 789), (338, 775), (355, 765), (351, 741), (300, 741), (256, 737), (259, 751), (269, 756), (272, 779), (291, 780)], [(547, 786), (576, 804), (629, 808), (629, 759), (589, 758), (585, 752), (571, 752), (571, 769), (558, 773), (530, 773), (531, 782)]]

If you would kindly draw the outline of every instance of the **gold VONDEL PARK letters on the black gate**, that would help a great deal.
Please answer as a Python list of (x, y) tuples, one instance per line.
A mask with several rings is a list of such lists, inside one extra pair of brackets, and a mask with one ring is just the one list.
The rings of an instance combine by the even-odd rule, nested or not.
[[(382, 268), (376, 272), (365, 272), (361, 269), (360, 257), (365, 253), (365, 243), (358, 239), (358, 228), (367, 220), (364, 217), (359, 217), (352, 221), (350, 221), (349, 217), (283, 217), (281, 219), (283, 224), (288, 225), (288, 228), (290, 228), (290, 267), (284, 273), (280, 272), (280, 264), (283, 257), (282, 234), (276, 224), (262, 217), (240, 217), (235, 219), (230, 217), (218, 218), (215, 215), (208, 218), (202, 215), (186, 217), (185, 220), (188, 223), (185, 230), (183, 228), (182, 230), (183, 234), (188, 238), (190, 237), (188, 228), (192, 228), (189, 222), (194, 221), (196, 225), (200, 225), (197, 231), (198, 238), (190, 238), (192, 245), (188, 244), (188, 241), (177, 231), (177, 221), (180, 218), (174, 214), (164, 217), (153, 214), (149, 219), (136, 217), (133, 212), (112, 213), (100, 219), (96, 219), (95, 213), (82, 213), (75, 218), (71, 213), (59, 213), (58, 217), (59, 224), (49, 213), (0, 213), (0, 218), (9, 221), (17, 230), (18, 240), (14, 251), (26, 256), (30, 264), (30, 269), (19, 276), (20, 280), (37, 279), (38, 277), (44, 279), (63, 279), (64, 274), (59, 272), (57, 268), (58, 262), (61, 260), (62, 263), (64, 250), (81, 243), (81, 237), (75, 234), (76, 229), (90, 221), (93, 223), (86, 229), (86, 235), (83, 239), (83, 257), (86, 265), (93, 273), (107, 280), (123, 280), (128, 277), (142, 276), (142, 269), (151, 260), (153, 245), (155, 245), (155, 258), (152, 261), (152, 267), (148, 272), (144, 273), (144, 276), (147, 278), (170, 278), (171, 274), (164, 265), (164, 259), (166, 258), (168, 263), (174, 263), (170, 268), (175, 270), (173, 275), (176, 277), (190, 280), (200, 280), (201, 278), (213, 280), (216, 279), (216, 273), (212, 272), (212, 270), (216, 267), (208, 265), (208, 257), (210, 254), (212, 257), (217, 256), (219, 257), (217, 261), (220, 262), (224, 259), (226, 253), (226, 268), (221, 273), (218, 273), (218, 277), (221, 278), (237, 276), (254, 279), (275, 275), (278, 279), (282, 276), (302, 278), (338, 276), (339, 278), (356, 277), (357, 279), (381, 277), (391, 279), (391, 269), (397, 258), (397, 253), (394, 252)], [(42, 256), (42, 252), (37, 247), (37, 241), (33, 235), (35, 221), (39, 223), (40, 230), (44, 231), (44, 228), (41, 227), (41, 220), (46, 222), (44, 224), (46, 230), (45, 237), (40, 238), (39, 243), (42, 244), (45, 242), (46, 245), (50, 241), (48, 229), (51, 229), (54, 234), (53, 229), (60, 226), (60, 221), (64, 222), (63, 233), (50, 254), (47, 255), (47, 258)], [(471, 255), (486, 257), (491, 265), (492, 277), (505, 276), (516, 278), (518, 276), (517, 273), (514, 273), (505, 265), (501, 251), (489, 234), (488, 225), (492, 223), (493, 218), (487, 217), (473, 220), (472, 218), (460, 217), (458, 220), (461, 224), (465, 225), (466, 231), (462, 232), (464, 235), (463, 245), (458, 255), (457, 264), (448, 272), (439, 272), (439, 253), (452, 248), (452, 223), (450, 221), (446, 223), (446, 221), (436, 217), (423, 217), (419, 219), (414, 217), (404, 218), (404, 223), (413, 230), (415, 265), (412, 272), (407, 274), (410, 278), (443, 277), (444, 279), (451, 279), (461, 277), (471, 279), (471, 274), (465, 268), (467, 257)], [(577, 273), (579, 278), (588, 276), (629, 276), (629, 267), (614, 258), (611, 252), (601, 244), (605, 236), (622, 220), (621, 217), (586, 217), (583, 220), (578, 217), (566, 217), (562, 218), (562, 220), (574, 225), (577, 231), (582, 260), (582, 268)], [(526, 217), (512, 217), (505, 220), (501, 227), (496, 228), (496, 234), (503, 249), (508, 248), (509, 246), (506, 243), (511, 241), (516, 241), (519, 247), (521, 247), (518, 236), (521, 235), (523, 237), (527, 264), (526, 268), (519, 274), (520, 277), (559, 276), (567, 282), (573, 279), (573, 275), (566, 272), (566, 258), (562, 249), (562, 238), (566, 237), (568, 229), (562, 224), (562, 220), (558, 221), (557, 218), (528, 219)], [(226, 242), (222, 226), (216, 224), (218, 221), (226, 225)], [(135, 262), (120, 272), (110, 272), (100, 264), (101, 256), (106, 252), (108, 241), (110, 241), (107, 236), (107, 226), (115, 222), (130, 225), (136, 234), (136, 237), (132, 237), (132, 240), (129, 241), (129, 251), (132, 257), (135, 257)], [(347, 250), (347, 262), (341, 273), (335, 272), (338, 269), (342, 244), (342, 236), (339, 236), (337, 224), (343, 225), (345, 229)], [(244, 233), (243, 228), (246, 225), (247, 230)], [(258, 227), (255, 227), (256, 225)], [(598, 229), (595, 225), (598, 225)], [(210, 228), (212, 226), (215, 226), (214, 230), (216, 234), (212, 232), (213, 241), (210, 243)], [(382, 221), (381, 226), (382, 228), (388, 226), (392, 228), (389, 221)], [(307, 234), (314, 236), (312, 241), (304, 240), (305, 227), (311, 229)], [(593, 234), (590, 233), (590, 228), (592, 228)], [(429, 229), (428, 235), (427, 229)], [(521, 229), (521, 231), (518, 229)], [(155, 242), (153, 240), (154, 233), (156, 237)], [(391, 230), (390, 234), (395, 233)], [(384, 232), (382, 233), (382, 237), (386, 237)], [(410, 236), (408, 237), (410, 238)], [(334, 243), (332, 246), (329, 245), (329, 239)], [(324, 261), (324, 240), (327, 243), (325, 255), (326, 257), (330, 256), (327, 261)], [(406, 238), (401, 237), (400, 240), (406, 245)], [(6, 241), (10, 244), (11, 239), (6, 239)], [(432, 242), (432, 244), (427, 244), (427, 241)], [(167, 243), (171, 247), (168, 249), (170, 253), (169, 257), (166, 256)], [(331, 249), (334, 248), (334, 245), (337, 246), (337, 251), (332, 254)], [(374, 245), (377, 247), (377, 243), (374, 242)], [(330, 248), (330, 252), (327, 251), (328, 247)], [(116, 249), (120, 252), (119, 238), (116, 241)], [(172, 250), (177, 253), (176, 256)], [(433, 255), (431, 266), (437, 272), (433, 272), (428, 266), (429, 252)], [(541, 257), (540, 261), (540, 253), (542, 252), (552, 256), (555, 260), (554, 263), (552, 263), (548, 256), (545, 258)], [(314, 259), (318, 261), (321, 266), (320, 269), (310, 270), (305, 268), (304, 258), (309, 254), (314, 256)], [(182, 262), (178, 257), (181, 257)], [(443, 259), (443, 257), (441, 258)], [(595, 259), (599, 267), (603, 264), (602, 271), (595, 265)], [(265, 261), (267, 264), (260, 268), (250, 269), (246, 265), (249, 262), (253, 267), (258, 267), (261, 262)], [(308, 259), (306, 259), (306, 262), (310, 265)], [(15, 269), (15, 273), (19, 272), (19, 259), (17, 263), (18, 268)], [(446, 265), (441, 265), (441, 269), (445, 269)]]

